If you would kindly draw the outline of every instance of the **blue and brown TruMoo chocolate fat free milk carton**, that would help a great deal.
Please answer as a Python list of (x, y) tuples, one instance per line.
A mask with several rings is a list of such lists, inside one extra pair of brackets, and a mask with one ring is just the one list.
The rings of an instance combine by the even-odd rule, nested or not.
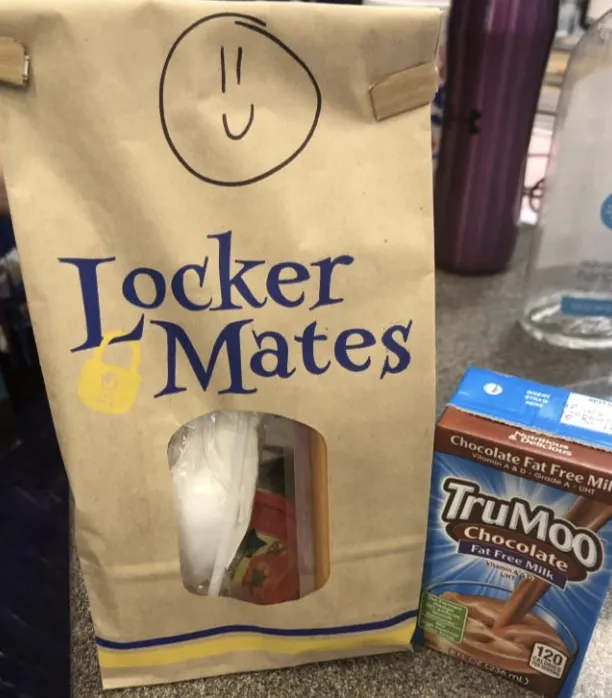
[(612, 403), (470, 369), (438, 424), (417, 642), (568, 698), (612, 570)]

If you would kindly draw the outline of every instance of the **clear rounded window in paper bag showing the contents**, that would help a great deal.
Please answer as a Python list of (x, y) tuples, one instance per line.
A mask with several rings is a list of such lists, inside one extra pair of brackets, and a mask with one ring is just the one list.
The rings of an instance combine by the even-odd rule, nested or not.
[(329, 577), (327, 449), (284, 417), (224, 411), (168, 445), (185, 588), (255, 604), (295, 601)]

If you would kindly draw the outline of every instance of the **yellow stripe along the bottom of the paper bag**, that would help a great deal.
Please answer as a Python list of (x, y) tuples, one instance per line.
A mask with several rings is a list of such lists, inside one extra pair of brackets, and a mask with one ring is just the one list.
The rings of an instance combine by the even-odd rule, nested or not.
[(131, 669), (176, 664), (231, 652), (270, 652), (295, 655), (309, 652), (346, 652), (364, 647), (401, 647), (410, 644), (415, 626), (416, 619), (412, 619), (393, 630), (358, 633), (345, 637), (279, 638), (256, 634), (237, 634), (196, 640), (180, 647), (154, 647), (127, 651), (98, 647), (98, 659), (102, 669)]

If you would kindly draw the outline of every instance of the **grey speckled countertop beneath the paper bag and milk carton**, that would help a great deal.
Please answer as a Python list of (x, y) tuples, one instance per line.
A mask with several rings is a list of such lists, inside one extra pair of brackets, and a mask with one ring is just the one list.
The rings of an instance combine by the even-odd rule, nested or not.
[[(443, 406), (468, 365), (544, 383), (568, 385), (606, 375), (612, 359), (532, 341), (516, 324), (529, 252), (524, 231), (510, 269), (489, 277), (437, 275), (437, 400)], [(612, 601), (595, 630), (576, 698), (604, 698), (612, 689)], [(76, 558), (72, 567), (72, 695), (102, 692), (93, 626)], [(525, 691), (455, 659), (425, 650), (379, 655), (297, 669), (125, 689), (121, 698), (527, 698)]]

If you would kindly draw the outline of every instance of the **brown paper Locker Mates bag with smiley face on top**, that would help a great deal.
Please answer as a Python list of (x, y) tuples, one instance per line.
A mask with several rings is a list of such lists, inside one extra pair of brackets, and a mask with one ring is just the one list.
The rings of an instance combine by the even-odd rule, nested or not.
[[(2, 162), (105, 687), (409, 646), (438, 25), (298, 3), (0, 5), (25, 47), (5, 60)], [(277, 453), (295, 511), (252, 492), (245, 507), (270, 555), (300, 534), (266, 512), (313, 522), (299, 599), (186, 588), (168, 445), (223, 411), (294, 420), (295, 453)], [(241, 545), (244, 591), (265, 574)]]

